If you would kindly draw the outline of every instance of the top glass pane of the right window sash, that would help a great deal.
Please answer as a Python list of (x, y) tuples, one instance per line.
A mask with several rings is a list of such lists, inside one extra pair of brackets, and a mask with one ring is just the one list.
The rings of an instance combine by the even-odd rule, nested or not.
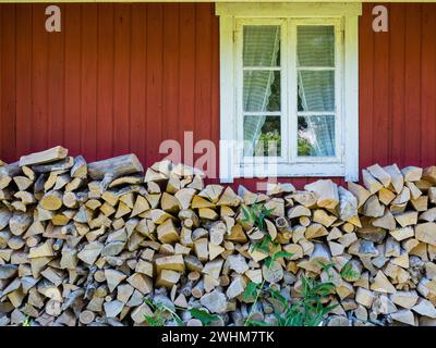
[(334, 26), (299, 26), (296, 39), (299, 66), (335, 66)]

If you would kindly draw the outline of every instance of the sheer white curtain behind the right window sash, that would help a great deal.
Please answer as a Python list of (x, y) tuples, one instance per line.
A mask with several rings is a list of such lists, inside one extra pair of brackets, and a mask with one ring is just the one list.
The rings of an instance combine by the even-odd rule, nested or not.
[[(335, 32), (332, 26), (298, 27), (299, 111), (331, 112), (304, 116), (314, 157), (335, 156)], [(312, 67), (312, 69), (311, 69)]]

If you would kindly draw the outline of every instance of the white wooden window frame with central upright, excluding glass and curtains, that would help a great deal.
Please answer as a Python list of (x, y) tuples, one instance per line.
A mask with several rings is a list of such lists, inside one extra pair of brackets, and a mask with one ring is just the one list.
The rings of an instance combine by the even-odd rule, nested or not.
[[(343, 176), (359, 179), (359, 15), (360, 3), (217, 3), (220, 16), (220, 179), (235, 177)], [(281, 134), (282, 157), (243, 158), (237, 139), (242, 139), (242, 25), (281, 25)], [(336, 158), (296, 157), (295, 62), (296, 25), (335, 25)], [(289, 39), (288, 39), (289, 37)], [(283, 45), (282, 42), (288, 45)], [(283, 59), (284, 58), (284, 59)], [(295, 96), (287, 98), (286, 95)], [(294, 139), (295, 146), (287, 142)], [(294, 150), (294, 153), (287, 151)], [(271, 173), (271, 166), (277, 164)]]

